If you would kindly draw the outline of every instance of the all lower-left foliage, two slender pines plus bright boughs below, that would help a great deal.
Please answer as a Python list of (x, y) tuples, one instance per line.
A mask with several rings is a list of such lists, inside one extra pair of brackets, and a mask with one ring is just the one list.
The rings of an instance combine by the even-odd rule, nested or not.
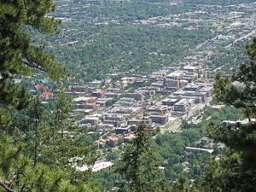
[[(81, 166), (84, 163), (90, 165), (95, 159), (88, 156), (91, 148), (81, 145), (78, 127), (65, 119), (69, 110), (70, 104), (63, 93), (56, 102), (53, 117), (44, 111), (44, 105), (35, 98), (19, 116), (22, 118), (18, 126), (20, 131), (15, 137), (24, 143), (14, 143), (10, 137), (1, 137), (0, 186), (4, 191), (100, 190), (98, 184), (81, 183), (90, 172), (76, 172), (74, 161), (70, 161), (77, 157), (75, 163)], [(64, 134), (65, 131), (72, 135)], [(3, 191), (2, 188), (0, 191)]]

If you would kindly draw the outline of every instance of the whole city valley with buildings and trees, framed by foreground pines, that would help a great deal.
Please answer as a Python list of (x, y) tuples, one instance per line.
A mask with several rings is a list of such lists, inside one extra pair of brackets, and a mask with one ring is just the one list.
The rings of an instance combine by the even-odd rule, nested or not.
[[(61, 20), (53, 37), (32, 32), (68, 77), (61, 83), (37, 72), (15, 77), (44, 108), (64, 90), (68, 118), (93, 146), (89, 181), (118, 191), (113, 172), (139, 125), (153, 135), (165, 177), (176, 183), (201, 177), (207, 163), (226, 151), (207, 137), (213, 122), (246, 125), (240, 109), (213, 96), (216, 73), (230, 77), (249, 61), (246, 45), (256, 35), (256, 2), (224, 0), (55, 0), (50, 16)], [(243, 86), (233, 82), (236, 87)], [(253, 119), (252, 119), (253, 120)], [(73, 134), (68, 132), (67, 134)], [(1, 191), (1, 189), (0, 189)]]

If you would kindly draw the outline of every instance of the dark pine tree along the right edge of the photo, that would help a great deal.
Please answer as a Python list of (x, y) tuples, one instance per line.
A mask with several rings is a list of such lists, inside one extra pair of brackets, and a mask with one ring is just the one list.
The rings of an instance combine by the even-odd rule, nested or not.
[(201, 184), (203, 191), (256, 191), (256, 122), (253, 120), (256, 116), (256, 38), (247, 45), (247, 55), (250, 62), (242, 64), (232, 78), (219, 74), (216, 77), (214, 88), (218, 101), (241, 108), (248, 123), (235, 127), (209, 125), (209, 136), (224, 143), (230, 152), (209, 166)]

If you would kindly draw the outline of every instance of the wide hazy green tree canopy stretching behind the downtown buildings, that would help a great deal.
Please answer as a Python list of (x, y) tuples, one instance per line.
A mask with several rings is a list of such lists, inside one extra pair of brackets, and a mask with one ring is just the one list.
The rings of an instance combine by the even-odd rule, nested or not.
[(68, 1), (69, 6), (63, 1), (57, 3), (61, 8), (54, 15), (68, 18), (61, 24), (62, 32), (55, 38), (38, 35), (37, 42), (48, 40), (49, 51), (58, 56), (76, 80), (105, 79), (111, 73), (148, 74), (178, 61), (189, 49), (212, 37), (207, 27), (191, 31), (183, 26), (160, 27), (161, 18), (143, 24), (150, 18), (194, 9), (183, 3), (174, 5), (166, 0), (160, 3)]

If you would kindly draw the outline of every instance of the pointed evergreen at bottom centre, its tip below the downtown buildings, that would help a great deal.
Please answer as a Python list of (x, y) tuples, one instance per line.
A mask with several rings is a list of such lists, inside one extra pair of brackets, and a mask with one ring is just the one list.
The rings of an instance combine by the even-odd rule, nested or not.
[(124, 176), (119, 191), (169, 191), (169, 183), (160, 171), (160, 160), (154, 154), (152, 137), (139, 125), (134, 142), (125, 149), (117, 172)]

